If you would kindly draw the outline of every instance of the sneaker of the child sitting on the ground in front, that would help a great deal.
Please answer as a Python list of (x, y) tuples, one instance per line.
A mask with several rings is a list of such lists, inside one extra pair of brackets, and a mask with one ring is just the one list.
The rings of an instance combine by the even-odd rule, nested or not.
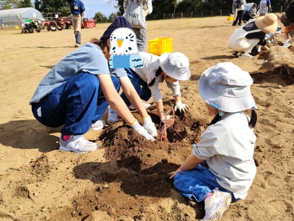
[(223, 212), (229, 207), (232, 196), (219, 188), (213, 190), (213, 195), (204, 200), (205, 217), (202, 220), (221, 220)]

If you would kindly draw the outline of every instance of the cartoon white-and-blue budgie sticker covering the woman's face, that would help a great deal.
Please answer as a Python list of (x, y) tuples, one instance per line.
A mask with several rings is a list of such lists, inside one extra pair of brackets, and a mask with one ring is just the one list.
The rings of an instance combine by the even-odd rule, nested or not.
[(143, 68), (137, 38), (130, 28), (117, 28), (110, 35), (110, 68)]

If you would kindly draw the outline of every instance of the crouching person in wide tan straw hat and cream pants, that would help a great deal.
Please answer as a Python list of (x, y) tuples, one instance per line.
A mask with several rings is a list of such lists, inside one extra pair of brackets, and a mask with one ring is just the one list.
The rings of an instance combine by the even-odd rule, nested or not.
[(228, 47), (233, 50), (231, 56), (237, 57), (239, 52), (243, 57), (258, 55), (261, 46), (267, 44), (266, 34), (275, 32), (277, 27), (277, 16), (270, 13), (236, 29), (227, 42)]

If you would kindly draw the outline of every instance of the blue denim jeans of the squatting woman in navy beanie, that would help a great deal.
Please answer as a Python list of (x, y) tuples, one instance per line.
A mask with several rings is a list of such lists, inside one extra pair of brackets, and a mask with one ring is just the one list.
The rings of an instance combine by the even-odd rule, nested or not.
[[(111, 80), (119, 91), (119, 79), (111, 77)], [(32, 104), (32, 112), (45, 126), (64, 125), (62, 135), (83, 135), (91, 123), (101, 118), (107, 107), (98, 77), (82, 72), (54, 88), (39, 103)]]

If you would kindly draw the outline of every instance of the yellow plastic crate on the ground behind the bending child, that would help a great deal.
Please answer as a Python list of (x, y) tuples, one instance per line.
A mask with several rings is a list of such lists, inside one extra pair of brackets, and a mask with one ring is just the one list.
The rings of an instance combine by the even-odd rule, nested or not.
[(149, 53), (162, 55), (172, 52), (172, 38), (155, 38), (148, 41)]

